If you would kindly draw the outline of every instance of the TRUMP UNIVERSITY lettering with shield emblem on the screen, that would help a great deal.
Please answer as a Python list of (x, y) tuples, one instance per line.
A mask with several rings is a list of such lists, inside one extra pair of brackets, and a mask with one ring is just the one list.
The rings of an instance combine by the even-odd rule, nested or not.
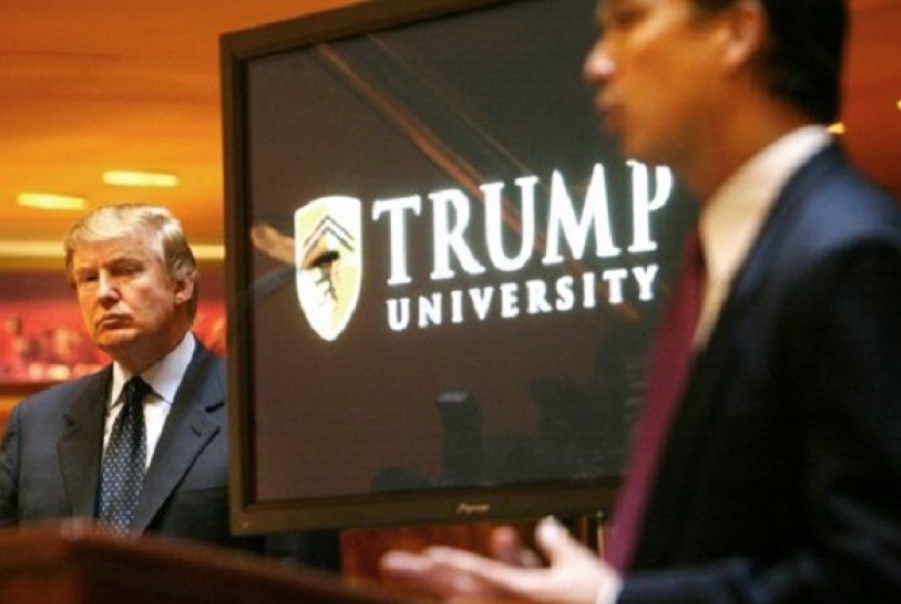
[[(503, 181), (485, 183), (475, 200), (456, 188), (373, 200), (368, 219), (389, 236), (385, 274), (376, 277), (389, 297), (367, 306), (381, 305), (386, 326), (401, 332), (653, 300), (659, 267), (651, 218), (668, 205), (673, 176), (665, 166), (632, 160), (626, 167), (631, 203), (613, 199), (599, 163), (586, 187), (571, 188), (554, 171), (549, 186), (535, 175), (515, 179), (512, 193)], [(631, 229), (614, 228), (614, 207), (631, 207)], [(356, 198), (330, 196), (294, 213), (297, 298), (323, 340), (337, 339), (357, 307), (363, 209)], [(423, 230), (431, 254), (409, 244), (422, 240), (411, 232)], [(544, 270), (520, 277), (526, 267)]]

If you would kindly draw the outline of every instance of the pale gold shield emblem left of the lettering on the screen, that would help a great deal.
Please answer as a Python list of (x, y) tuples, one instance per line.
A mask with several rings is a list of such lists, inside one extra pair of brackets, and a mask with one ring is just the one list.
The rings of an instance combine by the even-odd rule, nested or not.
[(363, 284), (363, 204), (323, 197), (294, 212), (297, 300), (309, 326), (332, 341), (347, 326)]

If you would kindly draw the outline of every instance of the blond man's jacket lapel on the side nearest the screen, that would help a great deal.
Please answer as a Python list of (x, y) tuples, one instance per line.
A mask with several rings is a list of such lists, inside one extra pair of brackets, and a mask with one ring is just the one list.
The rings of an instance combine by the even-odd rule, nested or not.
[(135, 526), (145, 529), (220, 426), (210, 413), (225, 404), (216, 357), (198, 342), (148, 468)]

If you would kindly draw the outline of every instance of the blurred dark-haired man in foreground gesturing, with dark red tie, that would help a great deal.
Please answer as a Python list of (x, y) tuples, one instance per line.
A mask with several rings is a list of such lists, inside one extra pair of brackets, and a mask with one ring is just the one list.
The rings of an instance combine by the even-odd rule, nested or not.
[(605, 561), (547, 519), (547, 566), (499, 529), (497, 561), (383, 570), (458, 599), (901, 602), (901, 213), (825, 129), (845, 1), (605, 0), (599, 18), (598, 111), (701, 200), (700, 316), (658, 337), (687, 323), (686, 372), (655, 391), (663, 348)]

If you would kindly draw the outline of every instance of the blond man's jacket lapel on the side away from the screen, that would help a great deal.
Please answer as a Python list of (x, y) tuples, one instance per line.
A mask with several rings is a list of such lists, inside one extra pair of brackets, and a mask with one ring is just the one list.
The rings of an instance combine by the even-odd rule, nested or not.
[(94, 513), (111, 376), (107, 368), (86, 378), (85, 388), (64, 415), (66, 428), (56, 451), (73, 516), (92, 517)]

